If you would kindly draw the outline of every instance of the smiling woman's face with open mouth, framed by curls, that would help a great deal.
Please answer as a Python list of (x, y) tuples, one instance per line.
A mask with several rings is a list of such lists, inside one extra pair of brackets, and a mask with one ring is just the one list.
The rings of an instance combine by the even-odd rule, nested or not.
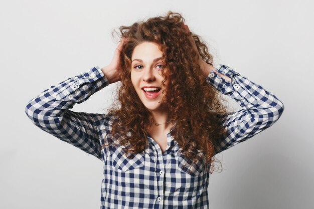
[[(163, 53), (159, 45), (143, 42), (137, 45), (131, 57), (131, 81), (133, 87), (148, 110), (160, 110), (164, 97), (162, 81)], [(165, 71), (166, 73), (166, 71)], [(165, 82), (168, 86), (168, 80)], [(166, 89), (164, 89), (166, 92)]]

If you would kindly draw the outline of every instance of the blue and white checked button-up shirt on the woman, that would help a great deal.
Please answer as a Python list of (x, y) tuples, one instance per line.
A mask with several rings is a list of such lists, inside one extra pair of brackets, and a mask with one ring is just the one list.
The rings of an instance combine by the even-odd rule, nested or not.
[[(222, 116), (228, 136), (216, 147), (219, 153), (274, 124), (284, 106), (272, 93), (228, 66), (216, 70), (232, 78), (231, 82), (212, 71), (208, 83), (243, 107)], [(209, 173), (203, 161), (185, 164), (189, 160), (181, 155), (171, 131), (164, 154), (150, 136), (144, 152), (133, 159), (122, 155), (123, 147), (117, 144), (100, 148), (111, 137), (112, 117), (69, 109), (107, 85), (100, 68), (93, 67), (43, 91), (27, 104), (26, 114), (39, 128), (103, 161), (100, 208), (209, 208)]]

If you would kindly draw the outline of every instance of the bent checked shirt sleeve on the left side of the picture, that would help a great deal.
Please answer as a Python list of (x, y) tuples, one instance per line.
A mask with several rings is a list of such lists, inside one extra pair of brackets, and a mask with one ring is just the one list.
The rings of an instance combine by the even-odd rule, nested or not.
[(107, 86), (108, 80), (98, 66), (51, 86), (27, 104), (25, 112), (42, 130), (102, 160), (97, 127), (104, 114), (74, 112), (74, 104), (86, 101)]

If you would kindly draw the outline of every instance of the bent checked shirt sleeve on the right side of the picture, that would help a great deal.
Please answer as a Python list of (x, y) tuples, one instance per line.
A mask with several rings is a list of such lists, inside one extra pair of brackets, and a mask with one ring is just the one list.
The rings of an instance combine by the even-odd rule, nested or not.
[(215, 154), (270, 127), (284, 110), (283, 103), (275, 95), (228, 66), (219, 65), (216, 71), (230, 77), (231, 82), (214, 71), (208, 75), (207, 82), (234, 99), (243, 109), (218, 116), (227, 129), (227, 135), (218, 142)]

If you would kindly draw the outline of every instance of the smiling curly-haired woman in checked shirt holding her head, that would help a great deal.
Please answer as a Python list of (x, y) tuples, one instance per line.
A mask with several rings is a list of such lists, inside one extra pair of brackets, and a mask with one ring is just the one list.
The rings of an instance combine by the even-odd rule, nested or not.
[[(212, 56), (180, 14), (120, 27), (112, 62), (32, 99), (26, 113), (50, 134), (104, 163), (101, 208), (208, 208), (214, 155), (271, 126), (284, 106)], [(119, 107), (73, 112), (121, 81)], [(243, 107), (227, 112), (219, 92)]]

